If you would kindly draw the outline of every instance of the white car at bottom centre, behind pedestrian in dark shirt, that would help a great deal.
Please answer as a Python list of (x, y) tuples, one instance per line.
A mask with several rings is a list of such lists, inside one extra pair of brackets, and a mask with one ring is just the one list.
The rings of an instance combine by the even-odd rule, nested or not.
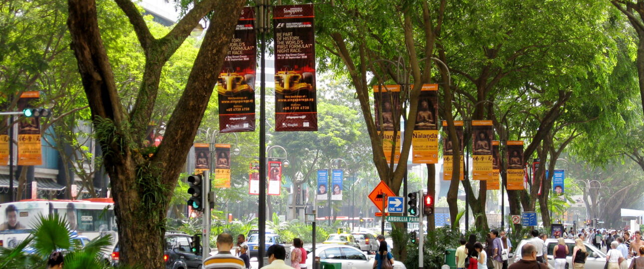
[[(313, 252), (307, 250), (307, 268), (313, 268)], [(327, 263), (341, 263), (342, 268), (348, 269), (372, 269), (374, 268), (374, 257), (366, 256), (359, 248), (347, 245), (322, 245), (316, 248), (316, 257)], [(393, 261), (393, 268), (406, 269), (403, 263)]]

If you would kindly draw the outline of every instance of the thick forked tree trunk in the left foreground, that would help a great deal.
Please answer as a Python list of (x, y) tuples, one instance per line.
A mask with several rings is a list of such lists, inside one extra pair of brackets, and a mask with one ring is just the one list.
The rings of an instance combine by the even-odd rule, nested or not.
[[(117, 216), (121, 261), (143, 268), (163, 266), (164, 223), (170, 195), (207, 107), (227, 53), (234, 23), (244, 1), (200, 1), (164, 37), (149, 31), (131, 1), (117, 0), (145, 52), (142, 81), (129, 113), (123, 107), (111, 62), (103, 45), (95, 1), (69, 0), (68, 28), (111, 179)], [(170, 117), (164, 139), (153, 157), (141, 153), (158, 96), (160, 74), (191, 30), (207, 14), (211, 27)]]

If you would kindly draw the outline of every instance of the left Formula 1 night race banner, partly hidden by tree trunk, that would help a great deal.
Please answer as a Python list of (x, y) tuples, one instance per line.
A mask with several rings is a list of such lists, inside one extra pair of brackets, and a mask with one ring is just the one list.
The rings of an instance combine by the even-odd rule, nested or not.
[(222, 133), (255, 130), (257, 47), (254, 22), (254, 8), (244, 7), (217, 80), (219, 130)]

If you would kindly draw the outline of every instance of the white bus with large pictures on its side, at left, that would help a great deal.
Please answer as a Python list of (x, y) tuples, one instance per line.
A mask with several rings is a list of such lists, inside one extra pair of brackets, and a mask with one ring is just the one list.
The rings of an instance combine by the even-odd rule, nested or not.
[[(117, 222), (111, 198), (86, 200), (29, 199), (0, 204), (0, 246), (15, 247), (32, 232), (38, 216), (59, 214), (70, 230), (89, 239), (111, 234), (117, 240)], [(112, 246), (113, 247), (113, 246)]]

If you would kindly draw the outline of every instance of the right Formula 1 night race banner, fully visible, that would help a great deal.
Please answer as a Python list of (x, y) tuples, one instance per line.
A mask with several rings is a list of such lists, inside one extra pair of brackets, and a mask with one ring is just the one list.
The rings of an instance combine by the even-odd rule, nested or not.
[(275, 130), (317, 131), (313, 4), (273, 8)]

